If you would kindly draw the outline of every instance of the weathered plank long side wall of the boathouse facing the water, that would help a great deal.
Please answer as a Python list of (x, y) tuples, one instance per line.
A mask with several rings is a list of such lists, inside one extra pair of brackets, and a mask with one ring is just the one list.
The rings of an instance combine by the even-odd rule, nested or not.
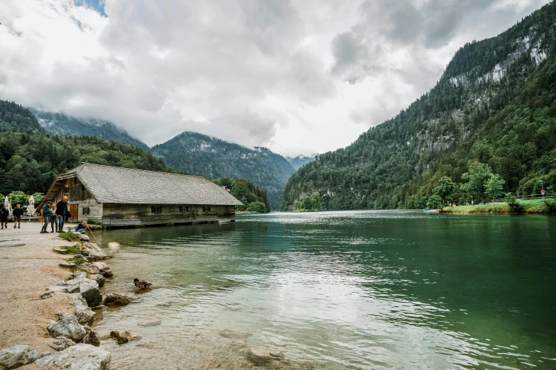
[[(152, 206), (162, 207), (161, 213), (152, 213)], [(172, 225), (182, 223), (206, 223), (219, 220), (235, 220), (234, 206), (210, 206), (209, 212), (201, 205), (189, 205), (189, 212), (180, 212), (178, 204), (116, 204), (104, 203), (102, 226), (131, 227), (148, 225)]]

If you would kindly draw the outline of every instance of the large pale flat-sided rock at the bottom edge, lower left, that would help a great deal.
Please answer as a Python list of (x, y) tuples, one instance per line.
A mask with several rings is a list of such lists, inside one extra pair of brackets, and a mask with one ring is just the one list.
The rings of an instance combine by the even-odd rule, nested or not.
[(36, 361), (39, 368), (58, 366), (67, 370), (109, 370), (110, 352), (90, 344), (75, 344), (61, 352), (51, 354)]

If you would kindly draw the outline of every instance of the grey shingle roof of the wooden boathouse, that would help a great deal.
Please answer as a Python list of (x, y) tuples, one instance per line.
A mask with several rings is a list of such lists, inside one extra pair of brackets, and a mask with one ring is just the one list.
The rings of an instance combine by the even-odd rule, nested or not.
[(197, 176), (84, 163), (60, 178), (72, 175), (99, 203), (242, 205), (221, 186)]

